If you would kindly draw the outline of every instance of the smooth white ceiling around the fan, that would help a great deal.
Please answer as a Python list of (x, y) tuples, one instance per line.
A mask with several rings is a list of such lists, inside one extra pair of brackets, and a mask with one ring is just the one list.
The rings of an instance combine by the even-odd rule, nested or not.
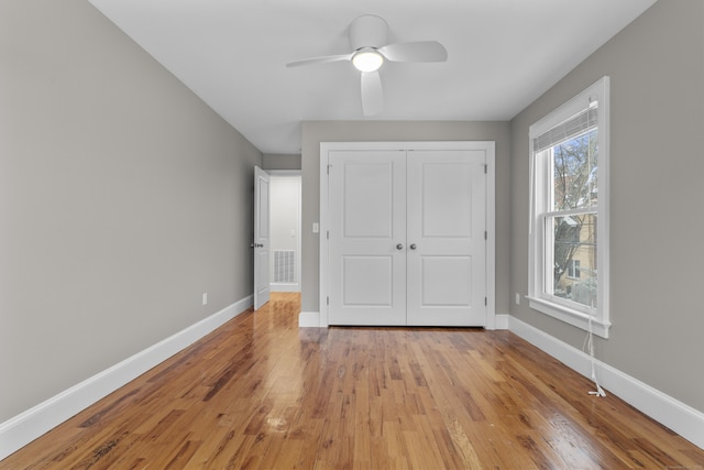
[[(509, 120), (656, 0), (89, 0), (264, 153), (299, 153), (307, 120)], [(435, 40), (447, 63), (386, 63), (362, 114), (349, 53), (362, 14), (389, 43)]]

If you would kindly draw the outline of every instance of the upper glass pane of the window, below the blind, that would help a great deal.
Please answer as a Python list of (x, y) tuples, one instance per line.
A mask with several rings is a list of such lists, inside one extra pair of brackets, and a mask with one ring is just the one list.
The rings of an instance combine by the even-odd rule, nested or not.
[(595, 207), (597, 129), (552, 147), (552, 211)]

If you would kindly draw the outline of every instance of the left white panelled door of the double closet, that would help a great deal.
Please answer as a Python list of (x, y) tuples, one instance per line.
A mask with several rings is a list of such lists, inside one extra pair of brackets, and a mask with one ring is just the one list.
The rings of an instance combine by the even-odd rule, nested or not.
[(329, 153), (329, 323), (406, 325), (406, 153)]

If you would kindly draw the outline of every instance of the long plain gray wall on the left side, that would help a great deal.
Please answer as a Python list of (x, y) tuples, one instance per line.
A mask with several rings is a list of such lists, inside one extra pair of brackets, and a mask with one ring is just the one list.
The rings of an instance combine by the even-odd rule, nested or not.
[(261, 160), (87, 1), (0, 2), (0, 422), (252, 294)]

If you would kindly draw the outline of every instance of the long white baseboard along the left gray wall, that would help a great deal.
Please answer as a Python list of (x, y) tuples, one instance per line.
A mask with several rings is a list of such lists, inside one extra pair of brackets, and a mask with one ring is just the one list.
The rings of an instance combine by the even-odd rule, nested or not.
[(0, 423), (0, 460), (26, 446), (252, 306), (248, 296), (143, 351)]

